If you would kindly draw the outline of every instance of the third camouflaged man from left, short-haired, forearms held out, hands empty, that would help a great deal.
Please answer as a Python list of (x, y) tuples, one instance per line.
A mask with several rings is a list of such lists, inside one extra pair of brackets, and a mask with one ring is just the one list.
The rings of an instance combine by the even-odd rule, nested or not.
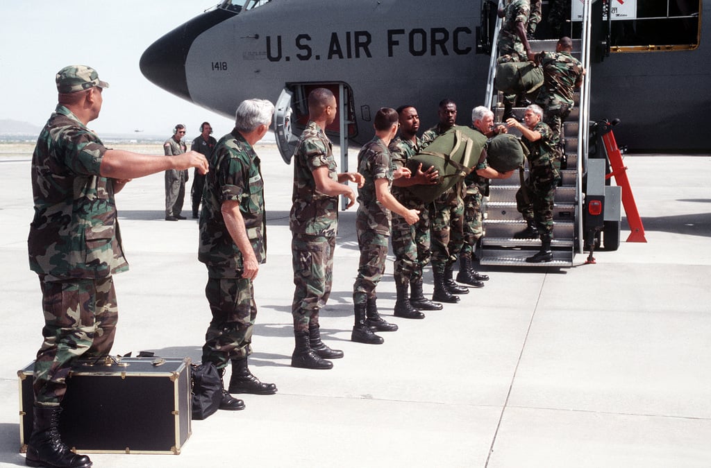
[[(309, 93), (309, 123), (294, 151), (294, 190), (289, 228), (294, 268), (294, 339), (292, 366), (331, 369), (327, 359), (343, 357), (321, 341), (319, 310), (326, 305), (333, 280), (333, 249), (338, 228), (338, 195), (355, 203), (353, 189), (363, 185), (358, 173), (337, 173), (331, 141), (324, 129), (336, 119), (336, 97), (325, 88)], [(326, 359), (324, 359), (326, 358)]]

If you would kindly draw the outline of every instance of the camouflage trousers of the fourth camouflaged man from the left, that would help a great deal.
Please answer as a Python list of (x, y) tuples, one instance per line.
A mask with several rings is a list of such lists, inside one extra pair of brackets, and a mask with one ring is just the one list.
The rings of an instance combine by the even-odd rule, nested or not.
[(375, 287), (385, 273), (387, 257), (387, 237), (373, 229), (358, 229), (358, 276), (353, 283), (353, 304), (365, 304), (375, 297)]

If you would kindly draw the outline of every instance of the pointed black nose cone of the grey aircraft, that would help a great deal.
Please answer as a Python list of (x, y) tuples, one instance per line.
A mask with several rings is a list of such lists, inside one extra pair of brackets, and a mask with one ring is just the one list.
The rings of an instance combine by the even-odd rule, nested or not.
[(141, 55), (141, 73), (154, 85), (192, 101), (188, 90), (185, 64), (193, 41), (218, 23), (235, 16), (232, 11), (216, 9), (203, 13), (152, 43)]

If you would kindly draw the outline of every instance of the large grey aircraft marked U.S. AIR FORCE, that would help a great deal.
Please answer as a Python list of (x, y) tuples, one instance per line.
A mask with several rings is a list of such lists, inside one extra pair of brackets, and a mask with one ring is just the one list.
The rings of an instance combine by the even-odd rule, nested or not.
[[(611, 14), (593, 24), (590, 119), (621, 119), (617, 139), (631, 150), (711, 148), (699, 125), (711, 108), (711, 30), (702, 21), (710, 2), (606, 1)], [(582, 2), (572, 0), (565, 34), (579, 31)], [(542, 3), (537, 36), (545, 37), (551, 1)], [(156, 40), (140, 67), (159, 87), (225, 116), (242, 99), (292, 98), (277, 107), (295, 112), (297, 128), (309, 89), (332, 87), (348, 137), (363, 143), (383, 106), (414, 104), (426, 128), (449, 97), (459, 124), (470, 123), (469, 109), (484, 102), (496, 9), (491, 0), (225, 0)]]

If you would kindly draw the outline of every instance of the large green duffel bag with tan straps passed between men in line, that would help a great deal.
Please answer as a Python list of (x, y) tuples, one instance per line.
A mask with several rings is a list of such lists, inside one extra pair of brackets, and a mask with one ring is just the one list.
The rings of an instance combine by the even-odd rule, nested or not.
[(410, 185), (407, 189), (424, 203), (434, 201), (469, 174), (479, 162), (484, 145), (486, 136), (478, 131), (459, 125), (452, 127), (407, 161), (407, 168), (413, 173), (420, 163), (422, 170), (434, 166), (439, 172), (437, 183)]

